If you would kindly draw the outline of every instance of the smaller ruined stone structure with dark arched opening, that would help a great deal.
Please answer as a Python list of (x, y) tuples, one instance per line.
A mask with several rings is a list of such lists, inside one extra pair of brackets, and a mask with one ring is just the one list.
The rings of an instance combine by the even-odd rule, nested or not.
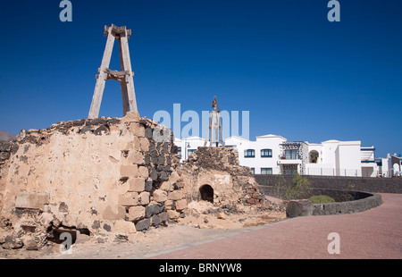
[(198, 147), (178, 172), (186, 184), (183, 192), (188, 203), (200, 200), (200, 189), (208, 185), (214, 189), (215, 206), (240, 204), (277, 208), (265, 199), (250, 168), (239, 164), (239, 153), (235, 149)]

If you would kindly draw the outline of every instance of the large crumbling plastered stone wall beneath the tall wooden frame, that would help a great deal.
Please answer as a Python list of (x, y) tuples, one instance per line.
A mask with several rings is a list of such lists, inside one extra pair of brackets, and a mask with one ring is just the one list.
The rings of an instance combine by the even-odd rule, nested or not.
[(0, 230), (43, 246), (60, 228), (127, 235), (179, 217), (177, 148), (155, 131), (135, 112), (22, 130), (0, 147)]

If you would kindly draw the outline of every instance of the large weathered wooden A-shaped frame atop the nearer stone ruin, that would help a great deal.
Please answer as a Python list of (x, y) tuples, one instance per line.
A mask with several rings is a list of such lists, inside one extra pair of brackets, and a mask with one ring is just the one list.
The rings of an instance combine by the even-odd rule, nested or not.
[[(134, 90), (134, 73), (131, 71), (129, 38), (131, 30), (125, 26), (112, 27), (105, 26), (104, 36), (107, 37), (104, 57), (102, 58), (99, 74), (96, 75), (96, 86), (94, 96), (92, 97), (91, 107), (89, 109), (88, 118), (93, 119), (99, 116), (100, 105), (105, 89), (106, 80), (118, 80), (121, 83), (121, 97), (123, 115), (127, 112), (138, 112), (136, 94)], [(119, 40), (120, 69), (121, 71), (111, 71), (109, 69), (110, 59), (113, 52), (114, 39)]]

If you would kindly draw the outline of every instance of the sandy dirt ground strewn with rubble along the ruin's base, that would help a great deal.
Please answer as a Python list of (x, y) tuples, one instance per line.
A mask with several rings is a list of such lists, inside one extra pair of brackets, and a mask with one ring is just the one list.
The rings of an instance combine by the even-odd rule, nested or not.
[[(127, 237), (111, 234), (109, 237), (80, 235), (71, 246), (70, 254), (62, 253), (60, 245), (49, 243), (40, 250), (5, 250), (0, 258), (8, 259), (121, 259), (147, 258), (172, 250), (185, 248), (236, 235), (256, 226), (286, 219), (285, 212), (262, 211), (251, 206), (238, 206), (235, 212), (222, 211), (212, 204), (200, 201), (188, 205), (183, 218), (166, 227), (151, 227)], [(172, 257), (173, 258), (173, 257)]]

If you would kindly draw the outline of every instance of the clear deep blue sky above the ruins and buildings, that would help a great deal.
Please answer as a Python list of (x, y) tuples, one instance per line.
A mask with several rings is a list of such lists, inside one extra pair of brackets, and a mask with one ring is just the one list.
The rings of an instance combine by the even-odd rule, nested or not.
[[(250, 112), (250, 139), (402, 154), (401, 1), (339, 0), (340, 22), (327, 20), (327, 0), (71, 0), (71, 22), (60, 2), (0, 4), (0, 130), (87, 118), (114, 23), (132, 29), (141, 116), (174, 103), (201, 114), (217, 96), (222, 110)], [(100, 115), (121, 117), (118, 82), (106, 82)]]

